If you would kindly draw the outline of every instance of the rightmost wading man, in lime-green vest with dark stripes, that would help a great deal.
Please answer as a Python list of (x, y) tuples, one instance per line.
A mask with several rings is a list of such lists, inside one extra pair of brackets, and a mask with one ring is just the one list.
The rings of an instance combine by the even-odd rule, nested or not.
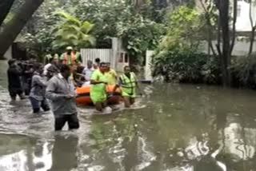
[(122, 89), (122, 97), (124, 99), (125, 106), (126, 108), (130, 108), (130, 105), (133, 105), (135, 102), (136, 88), (139, 89), (139, 86), (138, 79), (134, 72), (130, 72), (129, 66), (124, 67), (124, 74), (119, 77), (118, 85), (114, 87), (113, 92), (115, 92), (119, 86)]

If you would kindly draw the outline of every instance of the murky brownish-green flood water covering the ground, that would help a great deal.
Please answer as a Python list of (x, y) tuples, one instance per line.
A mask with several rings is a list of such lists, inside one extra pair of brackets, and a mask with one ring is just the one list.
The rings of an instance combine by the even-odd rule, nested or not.
[(0, 64), (1, 171), (256, 170), (256, 92), (215, 86), (143, 85), (138, 109), (92, 115), (54, 133), (51, 113), (10, 104)]

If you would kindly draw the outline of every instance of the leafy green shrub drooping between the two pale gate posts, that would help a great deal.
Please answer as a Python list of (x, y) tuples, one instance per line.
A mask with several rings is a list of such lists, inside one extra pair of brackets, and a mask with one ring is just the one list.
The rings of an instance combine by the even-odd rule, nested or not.
[(133, 20), (118, 23), (118, 37), (128, 51), (133, 62), (141, 64), (146, 50), (154, 50), (164, 31), (164, 26), (144, 19), (139, 15)]

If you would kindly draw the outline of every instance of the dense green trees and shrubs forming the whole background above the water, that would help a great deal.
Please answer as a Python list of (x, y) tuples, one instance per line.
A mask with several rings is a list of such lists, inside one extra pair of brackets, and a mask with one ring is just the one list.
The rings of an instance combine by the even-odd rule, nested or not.
[[(248, 0), (250, 6), (255, 2)], [(110, 48), (122, 38), (132, 65), (154, 50), (152, 70), (166, 82), (254, 87), (256, 29), (248, 55), (232, 56), (237, 0), (2, 0), (0, 56), (14, 40), (38, 58), (78, 48)], [(217, 42), (214, 43), (213, 41)], [(208, 53), (203, 53), (207, 44)]]

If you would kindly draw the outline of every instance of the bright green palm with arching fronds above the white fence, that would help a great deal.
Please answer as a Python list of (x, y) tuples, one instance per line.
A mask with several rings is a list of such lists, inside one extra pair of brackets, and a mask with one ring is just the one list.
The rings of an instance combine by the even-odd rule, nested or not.
[(54, 49), (66, 46), (94, 46), (96, 41), (94, 36), (90, 34), (94, 24), (82, 22), (64, 11), (59, 11), (56, 15), (62, 18), (63, 22), (53, 31), (55, 40), (52, 44)]

